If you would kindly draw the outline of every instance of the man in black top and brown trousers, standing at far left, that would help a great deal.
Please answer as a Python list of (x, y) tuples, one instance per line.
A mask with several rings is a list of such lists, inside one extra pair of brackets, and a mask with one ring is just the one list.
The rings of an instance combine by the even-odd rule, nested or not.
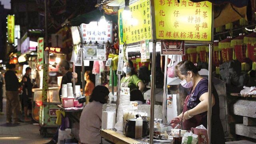
[(18, 88), (20, 86), (19, 80), (15, 74), (16, 65), (10, 64), (9, 70), (4, 74), (6, 83), (6, 123), (10, 124), (12, 120), (12, 111), (14, 112), (14, 123), (19, 123), (20, 100), (18, 95)]

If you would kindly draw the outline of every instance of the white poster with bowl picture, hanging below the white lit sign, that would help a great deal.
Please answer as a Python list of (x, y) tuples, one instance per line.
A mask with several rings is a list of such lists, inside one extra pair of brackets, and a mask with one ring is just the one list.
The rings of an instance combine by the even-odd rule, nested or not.
[(106, 60), (106, 46), (105, 44), (97, 45), (83, 45), (84, 60)]

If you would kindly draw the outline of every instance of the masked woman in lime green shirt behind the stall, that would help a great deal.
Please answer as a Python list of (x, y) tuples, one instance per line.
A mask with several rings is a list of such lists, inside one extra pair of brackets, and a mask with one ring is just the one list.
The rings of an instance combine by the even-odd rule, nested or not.
[(123, 72), (126, 76), (121, 79), (121, 87), (130, 88), (130, 91), (139, 89), (143, 92), (145, 85), (135, 73), (132, 61), (124, 63)]

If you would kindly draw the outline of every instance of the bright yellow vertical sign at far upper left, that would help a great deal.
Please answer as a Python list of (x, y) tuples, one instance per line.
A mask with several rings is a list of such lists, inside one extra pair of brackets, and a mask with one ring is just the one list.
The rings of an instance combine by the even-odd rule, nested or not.
[(7, 16), (7, 36), (8, 44), (14, 44), (14, 16)]

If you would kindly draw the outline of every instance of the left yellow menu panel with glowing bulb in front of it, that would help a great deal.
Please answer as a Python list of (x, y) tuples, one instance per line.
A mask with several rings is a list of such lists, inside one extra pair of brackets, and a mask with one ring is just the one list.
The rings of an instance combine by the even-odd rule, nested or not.
[(124, 14), (124, 8), (118, 10), (120, 44), (152, 39), (150, 0), (139, 0), (129, 7), (131, 17)]

